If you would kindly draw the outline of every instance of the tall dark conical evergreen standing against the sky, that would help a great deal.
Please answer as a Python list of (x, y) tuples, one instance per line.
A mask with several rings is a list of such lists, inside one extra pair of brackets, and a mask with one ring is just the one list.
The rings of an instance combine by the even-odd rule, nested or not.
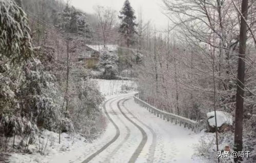
[(135, 27), (137, 24), (135, 23), (136, 16), (134, 15), (134, 10), (131, 7), (131, 4), (128, 0), (125, 1), (122, 10), (120, 11), (119, 18), (122, 20), (119, 32), (125, 36), (127, 47), (133, 43), (132, 37), (136, 33)]

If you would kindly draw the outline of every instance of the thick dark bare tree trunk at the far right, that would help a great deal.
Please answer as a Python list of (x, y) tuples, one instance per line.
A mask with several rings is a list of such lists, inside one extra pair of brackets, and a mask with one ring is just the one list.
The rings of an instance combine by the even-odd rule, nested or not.
[[(242, 14), (247, 19), (248, 0), (242, 1)], [(243, 149), (243, 107), (244, 107), (244, 76), (245, 76), (245, 52), (246, 52), (246, 22), (241, 17), (240, 45), (238, 59), (238, 82), (235, 108), (235, 128), (234, 128), (234, 151)], [(235, 162), (242, 160), (241, 157), (234, 158)]]

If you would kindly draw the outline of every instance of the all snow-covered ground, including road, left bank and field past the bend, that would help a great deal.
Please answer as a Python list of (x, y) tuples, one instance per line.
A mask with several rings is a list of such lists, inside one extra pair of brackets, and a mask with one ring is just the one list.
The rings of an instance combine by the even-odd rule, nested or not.
[(135, 87), (133, 82), (97, 81), (107, 99), (108, 125), (102, 135), (88, 143), (80, 135), (62, 133), (58, 144), (58, 134), (45, 131), (45, 155), (14, 153), (10, 162), (205, 162), (193, 157), (202, 134), (149, 113), (131, 98), (133, 90), (122, 94), (121, 86)]

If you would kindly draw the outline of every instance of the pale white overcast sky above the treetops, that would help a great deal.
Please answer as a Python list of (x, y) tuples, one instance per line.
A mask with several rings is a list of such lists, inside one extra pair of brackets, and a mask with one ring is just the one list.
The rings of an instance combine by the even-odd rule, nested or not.
[[(108, 6), (116, 10), (117, 13), (122, 9), (125, 0), (71, 0), (71, 5), (82, 9), (87, 13), (94, 13), (94, 6)], [(140, 8), (142, 9), (142, 17), (144, 21), (151, 20), (151, 24), (157, 29), (166, 29), (168, 18), (162, 14), (161, 0), (129, 0), (132, 8), (135, 10), (136, 17)]]

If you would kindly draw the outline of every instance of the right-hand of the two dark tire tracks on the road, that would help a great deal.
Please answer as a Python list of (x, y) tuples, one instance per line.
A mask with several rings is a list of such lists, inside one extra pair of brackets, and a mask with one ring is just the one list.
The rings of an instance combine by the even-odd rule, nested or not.
[(136, 150), (134, 151), (134, 153), (132, 154), (131, 158), (129, 159), (128, 162), (135, 162), (137, 157), (139, 157), (141, 151), (143, 150), (143, 147), (145, 146), (145, 144), (147, 143), (147, 139), (148, 139), (148, 136), (147, 136), (147, 133), (143, 130), (142, 127), (140, 127), (139, 125), (137, 125), (135, 122), (133, 122), (131, 119), (129, 119), (127, 117), (127, 115), (122, 111), (121, 107), (120, 107), (120, 102), (122, 100), (120, 100), (119, 102), (117, 102), (117, 107), (119, 108), (120, 112), (124, 115), (124, 117), (130, 121), (135, 127), (137, 127), (141, 133), (142, 133), (142, 141), (140, 143), (140, 145), (136, 148)]

